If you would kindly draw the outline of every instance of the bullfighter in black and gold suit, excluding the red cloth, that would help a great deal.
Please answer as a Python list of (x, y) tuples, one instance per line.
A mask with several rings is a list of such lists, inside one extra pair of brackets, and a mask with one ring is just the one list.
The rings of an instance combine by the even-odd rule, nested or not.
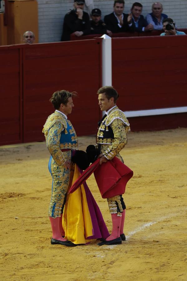
[[(116, 156), (123, 162), (119, 152), (127, 144), (127, 131), (130, 125), (124, 113), (116, 106), (117, 91), (111, 86), (105, 86), (98, 90), (98, 101), (102, 111), (106, 111), (99, 122), (97, 133), (97, 148), (100, 152), (100, 164), (113, 159)], [(121, 244), (125, 240), (123, 226), (125, 220), (125, 203), (122, 195), (107, 198), (110, 214), (112, 216), (113, 229), (111, 235), (98, 245)]]

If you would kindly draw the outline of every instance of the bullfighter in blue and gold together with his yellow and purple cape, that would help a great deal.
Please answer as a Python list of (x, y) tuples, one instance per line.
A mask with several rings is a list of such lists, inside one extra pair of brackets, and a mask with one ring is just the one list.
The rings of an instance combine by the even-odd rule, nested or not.
[(74, 106), (72, 101), (74, 95), (75, 93), (65, 90), (53, 94), (50, 101), (56, 110), (48, 117), (43, 129), (46, 145), (51, 154), (49, 171), (53, 179), (49, 206), (53, 232), (51, 244), (70, 247), (109, 235), (99, 207), (86, 183), (73, 194), (67, 194), (72, 182), (79, 177), (81, 169), (90, 164), (85, 157), (86, 153), (76, 150), (77, 136), (67, 119)]

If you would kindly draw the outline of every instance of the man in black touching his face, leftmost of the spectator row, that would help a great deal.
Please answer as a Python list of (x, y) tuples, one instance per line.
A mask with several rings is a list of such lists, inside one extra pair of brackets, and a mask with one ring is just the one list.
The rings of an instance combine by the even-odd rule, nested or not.
[(88, 13), (84, 12), (84, 0), (74, 0), (74, 9), (64, 17), (61, 41), (70, 41), (70, 34), (82, 36), (90, 34), (90, 19)]

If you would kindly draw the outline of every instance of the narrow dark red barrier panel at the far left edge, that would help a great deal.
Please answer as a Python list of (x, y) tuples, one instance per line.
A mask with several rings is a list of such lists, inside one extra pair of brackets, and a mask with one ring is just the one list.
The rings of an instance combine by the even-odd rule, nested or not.
[(22, 142), (22, 91), (20, 50), (6, 47), (0, 52), (0, 145)]

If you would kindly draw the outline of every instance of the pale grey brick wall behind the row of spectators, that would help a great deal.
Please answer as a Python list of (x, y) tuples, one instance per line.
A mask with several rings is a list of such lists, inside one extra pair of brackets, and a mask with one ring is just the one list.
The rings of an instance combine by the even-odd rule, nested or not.
[[(94, 0), (94, 7), (102, 11), (102, 18), (113, 11), (113, 0)], [(130, 8), (135, 0), (125, 1), (125, 13), (130, 12)], [(151, 12), (152, 1), (142, 0), (142, 14), (146, 16)], [(187, 1), (186, 0), (162, 0), (163, 12), (171, 17), (178, 28), (187, 27)], [(73, 0), (38, 0), (38, 24), (39, 42), (60, 41), (62, 33), (63, 19), (67, 12), (73, 7)], [(86, 9), (85, 9), (86, 11)]]

